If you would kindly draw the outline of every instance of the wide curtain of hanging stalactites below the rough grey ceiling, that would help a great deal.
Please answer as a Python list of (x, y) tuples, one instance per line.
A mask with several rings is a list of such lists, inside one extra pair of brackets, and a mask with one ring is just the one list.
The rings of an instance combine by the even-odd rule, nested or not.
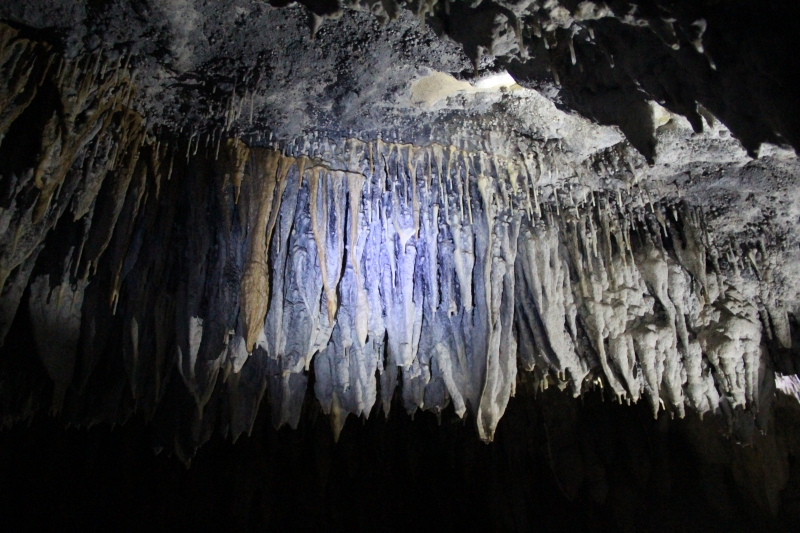
[[(32, 338), (70, 421), (160, 416), (191, 457), (250, 431), (265, 393), (296, 425), (313, 375), (337, 436), (397, 395), (489, 441), (521, 372), (760, 424), (768, 346), (791, 345), (769, 254), (718, 245), (681, 199), (559, 187), (540, 153), (198, 151), (148, 129), (133, 90), (122, 59), (62, 61), (0, 26), (0, 341)], [(5, 421), (29, 416), (29, 381), (4, 380)]]

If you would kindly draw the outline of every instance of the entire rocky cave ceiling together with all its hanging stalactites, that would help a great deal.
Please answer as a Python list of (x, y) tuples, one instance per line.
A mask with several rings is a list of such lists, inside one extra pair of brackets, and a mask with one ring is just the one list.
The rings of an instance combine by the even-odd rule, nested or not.
[(141, 423), (189, 465), (262, 424), (336, 446), (434, 416), (493, 447), (524, 401), (560, 493), (605, 501), (547, 433), (586, 396), (691, 419), (777, 517), (800, 487), (776, 425), (800, 408), (798, 21), (5, 0), (2, 425)]

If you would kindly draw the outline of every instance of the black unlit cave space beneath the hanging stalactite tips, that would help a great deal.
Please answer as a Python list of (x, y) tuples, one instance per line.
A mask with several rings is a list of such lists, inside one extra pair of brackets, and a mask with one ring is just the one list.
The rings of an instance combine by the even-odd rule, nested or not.
[(747, 446), (714, 420), (555, 388), (512, 399), (489, 445), (452, 410), (441, 425), (351, 417), (336, 444), (318, 408), (296, 431), (268, 411), (189, 469), (154, 455), (138, 418), (65, 430), (38, 417), (0, 432), (0, 512), (17, 531), (792, 531), (800, 516), (786, 398), (780, 427)]

